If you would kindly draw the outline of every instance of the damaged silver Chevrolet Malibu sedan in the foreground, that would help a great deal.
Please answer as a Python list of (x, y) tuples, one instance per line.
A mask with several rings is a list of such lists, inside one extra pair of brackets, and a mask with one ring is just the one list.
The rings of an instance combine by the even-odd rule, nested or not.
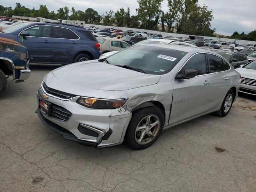
[(152, 145), (163, 129), (216, 112), (226, 116), (240, 74), (206, 50), (145, 44), (48, 73), (38, 89), (42, 123), (98, 148)]

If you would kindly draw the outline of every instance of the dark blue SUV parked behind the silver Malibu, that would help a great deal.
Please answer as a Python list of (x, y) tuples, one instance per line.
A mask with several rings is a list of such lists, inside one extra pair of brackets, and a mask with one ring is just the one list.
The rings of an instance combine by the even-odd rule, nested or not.
[(20, 42), (33, 63), (70, 64), (98, 59), (100, 44), (89, 31), (62, 23), (22, 23), (4, 30), (0, 37)]

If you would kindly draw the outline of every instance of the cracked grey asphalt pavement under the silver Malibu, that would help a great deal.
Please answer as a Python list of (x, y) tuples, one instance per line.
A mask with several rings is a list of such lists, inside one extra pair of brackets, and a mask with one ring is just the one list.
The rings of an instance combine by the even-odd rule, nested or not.
[(0, 98), (0, 192), (256, 192), (256, 97), (240, 94), (224, 118), (165, 130), (145, 150), (92, 148), (44, 126), (36, 91), (59, 65), (31, 65)]

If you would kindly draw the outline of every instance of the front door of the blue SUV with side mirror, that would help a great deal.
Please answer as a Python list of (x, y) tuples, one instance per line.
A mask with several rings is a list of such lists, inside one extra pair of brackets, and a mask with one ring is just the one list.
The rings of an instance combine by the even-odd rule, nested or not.
[(30, 35), (23, 36), (23, 40), (19, 35), (17, 41), (28, 49), (28, 55), (33, 58), (32, 62), (50, 63), (52, 55), (51, 26), (37, 25), (24, 31), (29, 32)]

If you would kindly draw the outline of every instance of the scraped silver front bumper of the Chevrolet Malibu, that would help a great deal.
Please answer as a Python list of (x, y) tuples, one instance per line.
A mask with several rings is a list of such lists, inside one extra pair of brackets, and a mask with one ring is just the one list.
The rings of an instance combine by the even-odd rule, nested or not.
[(126, 128), (130, 122), (131, 113), (124, 108), (91, 109), (76, 103), (78, 97), (70, 100), (60, 100), (50, 96), (42, 87), (38, 97), (48, 95), (47, 102), (65, 108), (72, 115), (68, 120), (60, 120), (54, 116), (46, 116), (40, 109), (36, 110), (42, 123), (52, 130), (62, 134), (68, 140), (82, 142), (88, 146), (106, 147), (123, 142)]

